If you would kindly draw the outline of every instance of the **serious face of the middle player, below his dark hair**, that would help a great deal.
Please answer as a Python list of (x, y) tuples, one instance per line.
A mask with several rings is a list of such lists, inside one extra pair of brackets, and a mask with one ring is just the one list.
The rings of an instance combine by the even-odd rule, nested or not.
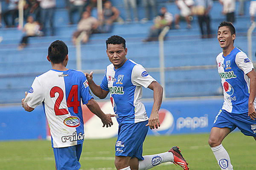
[(110, 62), (114, 67), (120, 68), (127, 61), (126, 59), (127, 48), (124, 48), (122, 44), (108, 44), (107, 55)]

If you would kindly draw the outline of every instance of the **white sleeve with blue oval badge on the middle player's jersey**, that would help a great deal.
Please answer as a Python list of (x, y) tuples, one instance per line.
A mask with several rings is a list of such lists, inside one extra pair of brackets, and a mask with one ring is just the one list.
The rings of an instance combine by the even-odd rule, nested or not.
[(156, 80), (148, 74), (142, 65), (135, 65), (131, 72), (131, 82), (133, 85), (148, 88), (151, 82), (156, 82)]

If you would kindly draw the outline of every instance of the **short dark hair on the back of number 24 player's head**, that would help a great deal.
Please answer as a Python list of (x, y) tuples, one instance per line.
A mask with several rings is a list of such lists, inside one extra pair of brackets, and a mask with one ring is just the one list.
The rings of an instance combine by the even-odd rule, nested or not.
[(63, 62), (67, 54), (67, 45), (61, 40), (52, 42), (48, 48), (48, 57), (54, 64)]

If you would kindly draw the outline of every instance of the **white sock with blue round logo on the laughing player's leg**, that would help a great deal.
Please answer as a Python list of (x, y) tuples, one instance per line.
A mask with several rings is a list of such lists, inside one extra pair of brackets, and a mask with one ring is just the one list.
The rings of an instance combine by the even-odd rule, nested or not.
[(233, 170), (230, 157), (222, 144), (212, 147), (212, 152), (218, 161), (221, 170)]

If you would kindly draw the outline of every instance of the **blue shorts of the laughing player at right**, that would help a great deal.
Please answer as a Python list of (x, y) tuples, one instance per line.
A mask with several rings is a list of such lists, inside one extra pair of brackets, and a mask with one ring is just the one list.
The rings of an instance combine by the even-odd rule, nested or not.
[(230, 131), (238, 127), (244, 135), (256, 137), (256, 120), (250, 119), (248, 113), (236, 114), (220, 110), (212, 127), (228, 127)]

